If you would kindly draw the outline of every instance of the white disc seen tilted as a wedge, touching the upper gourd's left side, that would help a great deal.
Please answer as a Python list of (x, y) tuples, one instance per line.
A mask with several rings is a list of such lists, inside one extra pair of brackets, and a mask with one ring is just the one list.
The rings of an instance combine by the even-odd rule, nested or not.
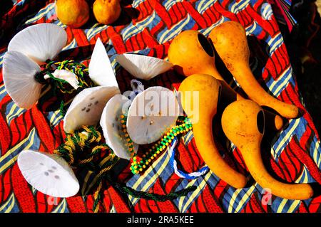
[(118, 55), (116, 60), (131, 75), (143, 80), (150, 80), (173, 67), (167, 60), (130, 53)]

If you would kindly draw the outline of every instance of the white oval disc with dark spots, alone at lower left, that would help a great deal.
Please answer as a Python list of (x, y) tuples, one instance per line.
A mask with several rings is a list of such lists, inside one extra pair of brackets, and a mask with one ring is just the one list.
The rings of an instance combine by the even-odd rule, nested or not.
[(56, 154), (24, 150), (19, 154), (17, 162), (26, 181), (43, 194), (66, 198), (79, 191), (73, 170)]

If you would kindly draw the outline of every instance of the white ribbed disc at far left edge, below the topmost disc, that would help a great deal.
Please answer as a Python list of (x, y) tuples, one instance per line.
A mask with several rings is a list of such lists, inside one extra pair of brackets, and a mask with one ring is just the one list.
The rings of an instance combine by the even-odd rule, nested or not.
[(34, 76), (40, 71), (39, 65), (23, 53), (8, 51), (4, 55), (4, 86), (19, 107), (30, 109), (39, 100), (43, 85)]

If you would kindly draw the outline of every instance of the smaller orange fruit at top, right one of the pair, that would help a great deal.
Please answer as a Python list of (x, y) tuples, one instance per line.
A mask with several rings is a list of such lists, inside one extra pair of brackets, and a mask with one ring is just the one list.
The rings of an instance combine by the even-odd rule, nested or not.
[(96, 0), (93, 3), (93, 15), (99, 23), (113, 23), (121, 15), (121, 4), (119, 0)]

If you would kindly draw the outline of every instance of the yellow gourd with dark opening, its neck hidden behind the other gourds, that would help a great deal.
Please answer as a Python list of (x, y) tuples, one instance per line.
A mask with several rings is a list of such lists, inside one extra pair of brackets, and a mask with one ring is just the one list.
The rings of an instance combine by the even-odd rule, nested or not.
[[(220, 80), (222, 85), (222, 100), (227, 104), (244, 98), (235, 92), (225, 82), (215, 67), (215, 54), (210, 41), (200, 32), (187, 30), (176, 36), (168, 48), (168, 60), (173, 63), (174, 69), (181, 75), (189, 76), (196, 73), (212, 75)], [(280, 130), (283, 126), (282, 118), (272, 112), (269, 115), (269, 124), (272, 130)]]

